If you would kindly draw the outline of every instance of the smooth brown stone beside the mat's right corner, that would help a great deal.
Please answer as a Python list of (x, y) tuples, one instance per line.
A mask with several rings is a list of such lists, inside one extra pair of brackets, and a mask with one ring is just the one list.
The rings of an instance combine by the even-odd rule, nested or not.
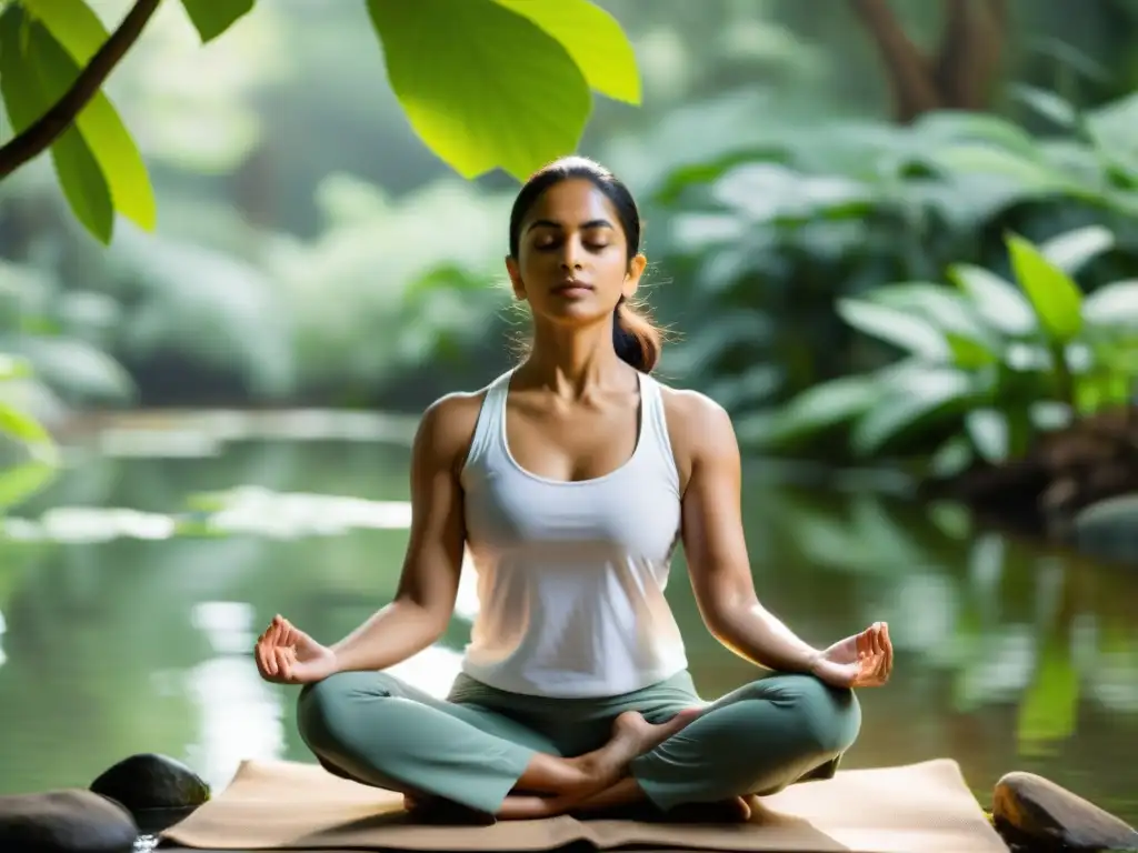
[(1138, 850), (1133, 827), (1034, 773), (1015, 771), (996, 782), (992, 822), (1013, 848), (1031, 853)]

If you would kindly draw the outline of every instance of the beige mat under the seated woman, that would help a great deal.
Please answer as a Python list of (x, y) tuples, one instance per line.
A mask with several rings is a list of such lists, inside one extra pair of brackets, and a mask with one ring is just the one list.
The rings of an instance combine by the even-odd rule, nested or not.
[(164, 834), (211, 850), (537, 851), (574, 842), (703, 851), (1006, 853), (955, 761), (842, 770), (754, 800), (751, 822), (500, 821), (414, 826), (401, 797), (315, 764), (245, 762), (213, 801)]

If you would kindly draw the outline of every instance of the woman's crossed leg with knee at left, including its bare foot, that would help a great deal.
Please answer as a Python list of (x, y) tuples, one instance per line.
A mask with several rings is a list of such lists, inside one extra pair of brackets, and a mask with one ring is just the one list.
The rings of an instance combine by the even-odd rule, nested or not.
[(580, 802), (611, 787), (635, 756), (690, 719), (651, 723), (629, 710), (604, 746), (564, 757), (505, 714), (436, 699), (384, 672), (344, 672), (308, 685), (297, 707), (302, 738), (331, 772), (412, 802), (440, 798), (502, 818), (525, 817), (509, 802), (511, 790), (534, 792), (523, 803)]

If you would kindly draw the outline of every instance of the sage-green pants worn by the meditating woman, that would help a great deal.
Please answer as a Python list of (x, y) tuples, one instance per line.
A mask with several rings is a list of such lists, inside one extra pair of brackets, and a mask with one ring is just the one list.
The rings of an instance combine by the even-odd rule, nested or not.
[[(665, 722), (706, 705), (687, 672), (604, 698), (543, 698), (459, 676), (437, 699), (385, 672), (341, 672), (300, 691), (300, 736), (330, 771), (389, 790), (430, 794), (494, 813), (535, 752), (602, 746), (612, 720)], [(707, 705), (693, 723), (635, 759), (630, 772), (660, 809), (773, 794), (833, 776), (861, 724), (851, 690), (776, 674)]]

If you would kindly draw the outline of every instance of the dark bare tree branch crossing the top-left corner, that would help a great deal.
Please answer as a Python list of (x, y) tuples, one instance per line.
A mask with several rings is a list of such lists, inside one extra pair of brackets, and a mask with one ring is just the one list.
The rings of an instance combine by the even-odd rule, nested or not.
[(71, 127), (75, 117), (110, 76), (110, 72), (138, 41), (159, 2), (162, 0), (137, 0), (115, 32), (75, 77), (75, 82), (64, 93), (64, 97), (23, 133), (17, 134), (0, 148), (0, 181), (46, 151)]

